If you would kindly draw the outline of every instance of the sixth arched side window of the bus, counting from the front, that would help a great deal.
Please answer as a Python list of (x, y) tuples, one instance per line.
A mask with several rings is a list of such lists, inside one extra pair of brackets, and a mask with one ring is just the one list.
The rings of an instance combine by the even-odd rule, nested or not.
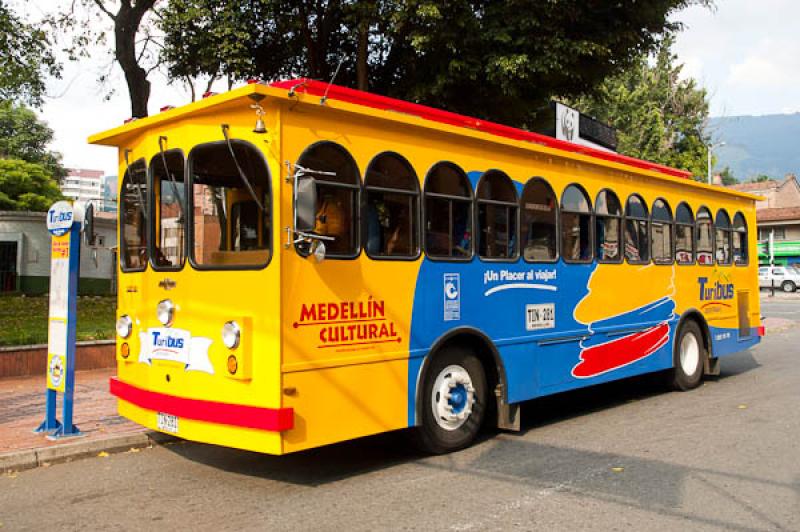
[(561, 256), (564, 262), (592, 260), (592, 204), (579, 185), (561, 194)]

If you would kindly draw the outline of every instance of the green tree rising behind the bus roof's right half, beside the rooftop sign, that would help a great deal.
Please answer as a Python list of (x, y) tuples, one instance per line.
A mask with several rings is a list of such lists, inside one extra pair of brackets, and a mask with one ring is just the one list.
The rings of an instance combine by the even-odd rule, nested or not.
[(643, 54), (573, 104), (617, 128), (621, 153), (688, 170), (705, 180), (708, 99), (695, 80), (680, 78), (682, 65), (676, 63), (672, 43), (671, 37), (663, 39), (653, 56)]

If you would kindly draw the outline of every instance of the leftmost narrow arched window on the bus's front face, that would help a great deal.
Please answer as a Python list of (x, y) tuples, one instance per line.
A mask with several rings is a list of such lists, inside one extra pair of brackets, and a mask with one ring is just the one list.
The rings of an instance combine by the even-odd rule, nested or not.
[(125, 170), (120, 193), (120, 266), (124, 272), (140, 272), (147, 265), (147, 198), (147, 166), (139, 159)]

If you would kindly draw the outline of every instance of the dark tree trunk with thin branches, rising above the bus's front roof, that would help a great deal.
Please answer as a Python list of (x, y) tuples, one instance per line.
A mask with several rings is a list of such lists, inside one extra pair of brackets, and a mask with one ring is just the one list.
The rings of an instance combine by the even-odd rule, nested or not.
[[(86, 56), (89, 43), (103, 43), (107, 39), (107, 33), (113, 34), (114, 60), (125, 75), (131, 101), (131, 116), (136, 118), (147, 116), (147, 103), (150, 100), (150, 81), (147, 76), (158, 68), (158, 63), (147, 68), (143, 66), (148, 55), (148, 45), (153, 42), (149, 25), (144, 24), (143, 20), (156, 2), (157, 0), (73, 1), (66, 11), (48, 20), (51, 26), (72, 35), (72, 43), (68, 47), (72, 59)], [(98, 29), (102, 28), (98, 20), (102, 22), (103, 17), (111, 22), (110, 30)], [(104, 80), (105, 77), (101, 78), (101, 81)]]

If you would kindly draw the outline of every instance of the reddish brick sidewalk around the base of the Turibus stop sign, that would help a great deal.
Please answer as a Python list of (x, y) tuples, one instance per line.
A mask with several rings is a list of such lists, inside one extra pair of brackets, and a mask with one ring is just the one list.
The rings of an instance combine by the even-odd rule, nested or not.
[[(84, 434), (58, 441), (33, 430), (44, 419), (45, 377), (0, 379), (0, 473), (148, 445), (153, 433), (117, 415), (108, 392), (113, 368), (75, 373), (74, 423)], [(61, 394), (57, 417), (61, 419)]]

